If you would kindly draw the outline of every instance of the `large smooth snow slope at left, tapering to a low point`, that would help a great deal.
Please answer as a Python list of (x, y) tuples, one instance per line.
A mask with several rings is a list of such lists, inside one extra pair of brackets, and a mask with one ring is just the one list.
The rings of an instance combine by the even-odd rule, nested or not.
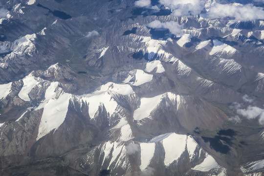
[(44, 102), (45, 105), (37, 140), (53, 129), (57, 130), (64, 122), (68, 111), (70, 96), (69, 93), (62, 93), (58, 99), (50, 99), (47, 102)]

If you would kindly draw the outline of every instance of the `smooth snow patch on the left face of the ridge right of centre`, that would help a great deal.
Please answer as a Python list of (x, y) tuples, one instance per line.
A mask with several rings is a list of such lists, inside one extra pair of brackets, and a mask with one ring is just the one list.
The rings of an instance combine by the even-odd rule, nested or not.
[(150, 113), (154, 110), (154, 108), (161, 101), (161, 97), (162, 97), (162, 94), (154, 96), (152, 98), (141, 98), (140, 106), (138, 109), (134, 111), (133, 118), (135, 120), (141, 120), (143, 118), (148, 117)]

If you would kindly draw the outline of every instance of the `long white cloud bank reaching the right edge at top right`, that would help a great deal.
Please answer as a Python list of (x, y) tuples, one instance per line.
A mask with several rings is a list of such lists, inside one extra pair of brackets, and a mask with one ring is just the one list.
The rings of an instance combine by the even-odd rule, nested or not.
[(220, 4), (215, 3), (208, 12), (212, 19), (232, 18), (237, 21), (252, 21), (264, 19), (264, 9), (253, 4)]

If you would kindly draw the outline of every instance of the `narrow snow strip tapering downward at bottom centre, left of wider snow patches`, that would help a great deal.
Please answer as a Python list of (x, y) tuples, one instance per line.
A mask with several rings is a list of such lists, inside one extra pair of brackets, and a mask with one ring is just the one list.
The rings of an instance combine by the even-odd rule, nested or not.
[(149, 166), (155, 152), (155, 143), (140, 143), (141, 149), (141, 171), (145, 171)]

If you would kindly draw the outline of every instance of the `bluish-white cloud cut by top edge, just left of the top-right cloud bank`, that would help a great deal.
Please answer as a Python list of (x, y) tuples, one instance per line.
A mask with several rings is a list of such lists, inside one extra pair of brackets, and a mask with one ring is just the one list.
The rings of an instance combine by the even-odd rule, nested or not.
[(200, 0), (159, 0), (159, 3), (169, 7), (174, 16), (200, 14), (204, 4)]

